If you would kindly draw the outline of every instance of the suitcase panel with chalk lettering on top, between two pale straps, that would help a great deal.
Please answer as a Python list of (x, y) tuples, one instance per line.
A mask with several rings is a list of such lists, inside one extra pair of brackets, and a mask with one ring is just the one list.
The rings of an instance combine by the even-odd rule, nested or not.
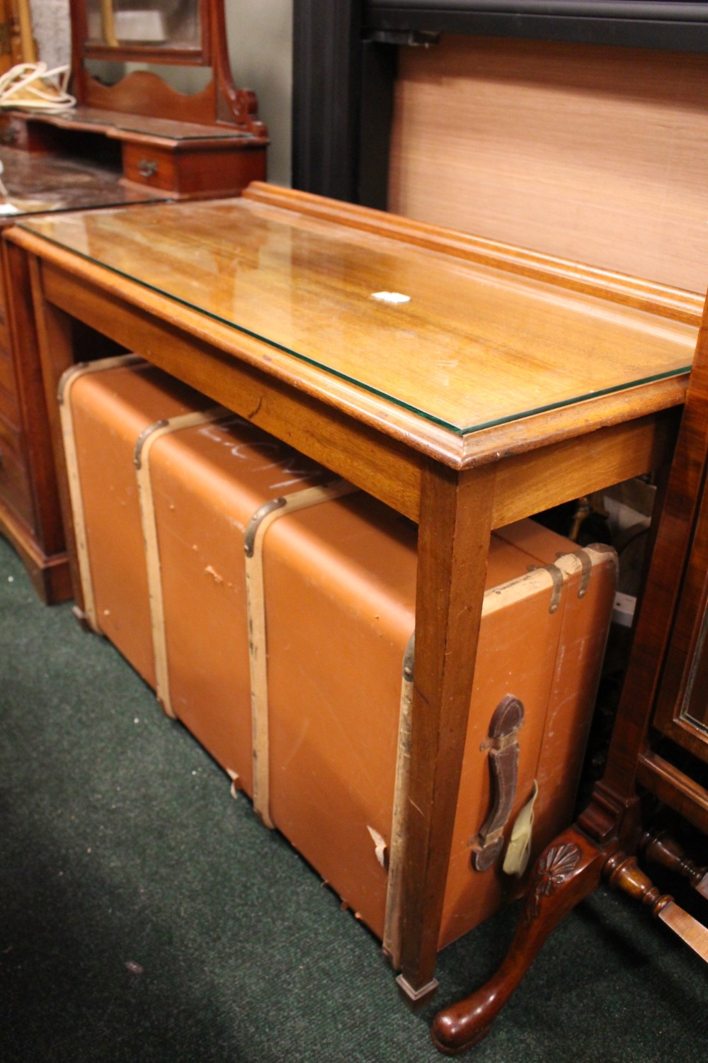
[(234, 417), (160, 439), (151, 478), (170, 703), (253, 794), (246, 527), (264, 502), (333, 477)]

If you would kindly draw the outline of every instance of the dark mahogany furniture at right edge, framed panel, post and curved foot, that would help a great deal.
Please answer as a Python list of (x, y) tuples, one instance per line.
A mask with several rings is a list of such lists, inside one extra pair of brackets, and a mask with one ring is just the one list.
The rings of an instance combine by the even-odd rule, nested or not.
[[(603, 880), (676, 929), (670, 916), (677, 906), (660, 896), (639, 871), (635, 853), (658, 858), (704, 896), (708, 893), (706, 868), (687, 860), (666, 838), (658, 845), (643, 822), (647, 806), (658, 799), (692, 829), (708, 833), (707, 688), (702, 678), (708, 656), (707, 472), (708, 311), (704, 310), (604, 777), (576, 824), (536, 863), (516, 937), (498, 973), (435, 1016), (432, 1036), (441, 1051), (457, 1054), (489, 1032), (548, 935)], [(676, 932), (708, 958), (705, 927), (689, 924), (686, 933)]]

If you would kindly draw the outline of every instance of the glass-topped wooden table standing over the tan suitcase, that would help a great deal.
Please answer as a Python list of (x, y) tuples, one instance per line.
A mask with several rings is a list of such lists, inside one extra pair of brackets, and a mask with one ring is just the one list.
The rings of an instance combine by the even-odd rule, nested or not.
[(399, 984), (425, 999), (490, 530), (670, 459), (703, 300), (265, 185), (40, 219), (4, 254), (48, 393), (83, 322), (418, 523)]

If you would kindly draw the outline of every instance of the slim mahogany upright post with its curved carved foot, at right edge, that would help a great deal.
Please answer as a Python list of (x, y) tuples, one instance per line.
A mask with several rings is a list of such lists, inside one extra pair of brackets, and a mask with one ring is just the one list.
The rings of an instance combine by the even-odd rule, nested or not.
[[(435, 1017), (433, 1041), (443, 1051), (462, 1051), (488, 1032), (491, 1020), (518, 985), (548, 933), (566, 912), (599, 884), (603, 870), (611, 885), (642, 900), (653, 909), (654, 914), (669, 922), (666, 914), (661, 916), (661, 912), (667, 912), (670, 898), (659, 897), (651, 881), (641, 876), (636, 863), (624, 854), (618, 854), (618, 849), (627, 846), (629, 851), (634, 850), (641, 833), (638, 823), (637, 773), (649, 744), (651, 710), (655, 706), (661, 667), (669, 644), (680, 586), (678, 577), (686, 562), (708, 448), (705, 416), (708, 395), (707, 342), (708, 330), (704, 317), (676, 457), (662, 500), (604, 777), (594, 787), (590, 804), (580, 816), (577, 827), (560, 836), (536, 865), (521, 925), (499, 973), (487, 985)], [(702, 461), (695, 460), (696, 454), (702, 456)], [(703, 571), (705, 572), (705, 564)], [(695, 787), (696, 796), (697, 789)], [(557, 847), (560, 844), (580, 846), (576, 867), (568, 872), (565, 885), (562, 882), (559, 889), (550, 889), (549, 894), (545, 895), (542, 883), (548, 878), (547, 864), (551, 854), (555, 855), (554, 859), (558, 859)], [(703, 879), (703, 875), (701, 878)], [(541, 897), (537, 906), (535, 898), (539, 890)], [(532, 919), (529, 924), (529, 913), (535, 912), (536, 907), (541, 918)], [(680, 910), (679, 913), (680, 916), (685, 915)], [(690, 916), (686, 918), (690, 919)], [(705, 956), (705, 947), (708, 946), (703, 943), (701, 930), (695, 925), (687, 925), (680, 917), (679, 923), (683, 928), (679, 929), (674, 924), (676, 932)], [(700, 940), (698, 947), (696, 940)]]

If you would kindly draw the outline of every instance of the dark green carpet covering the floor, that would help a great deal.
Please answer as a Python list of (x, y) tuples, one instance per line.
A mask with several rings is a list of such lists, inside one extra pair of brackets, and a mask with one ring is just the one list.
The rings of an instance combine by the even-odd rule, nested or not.
[[(708, 907), (708, 906), (706, 906)], [(439, 957), (437, 1006), (494, 971), (506, 911)], [(418, 1063), (376, 940), (0, 539), (0, 1061)], [(469, 1058), (705, 1060), (708, 968), (601, 891)]]

